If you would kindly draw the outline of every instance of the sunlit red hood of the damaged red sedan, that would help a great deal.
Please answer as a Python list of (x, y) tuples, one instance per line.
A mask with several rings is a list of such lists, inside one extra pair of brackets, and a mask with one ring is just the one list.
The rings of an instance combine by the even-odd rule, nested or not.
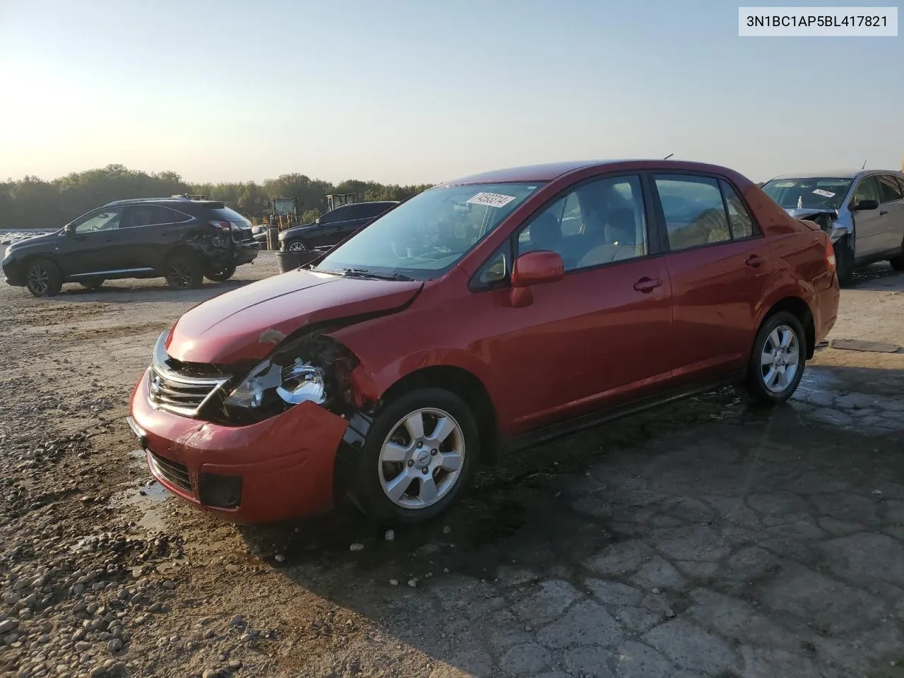
[(391, 313), (410, 302), (422, 286), (419, 281), (289, 271), (194, 306), (174, 325), (166, 353), (186, 363), (259, 360), (304, 325)]

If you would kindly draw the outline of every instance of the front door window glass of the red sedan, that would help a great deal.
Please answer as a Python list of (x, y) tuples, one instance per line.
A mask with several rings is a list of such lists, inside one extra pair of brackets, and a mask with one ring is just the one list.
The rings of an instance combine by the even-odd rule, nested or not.
[(558, 252), (566, 271), (645, 256), (639, 177), (598, 179), (560, 197), (518, 234), (518, 254), (532, 250)]

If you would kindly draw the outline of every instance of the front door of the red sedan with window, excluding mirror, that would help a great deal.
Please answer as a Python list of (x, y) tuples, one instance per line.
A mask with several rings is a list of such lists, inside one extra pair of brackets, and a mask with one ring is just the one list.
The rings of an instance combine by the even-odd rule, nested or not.
[[(652, 394), (669, 380), (671, 289), (646, 214), (636, 175), (581, 184), (529, 220), (512, 245), (516, 254), (558, 252), (565, 278), (532, 287), (529, 306), (513, 307), (507, 288), (476, 294), (479, 311), (468, 322), (494, 328), (485, 350), (504, 375), (494, 387), (517, 394), (504, 413), (513, 433)], [(506, 257), (500, 251), (502, 261), (491, 259), (479, 275), (500, 275)]]

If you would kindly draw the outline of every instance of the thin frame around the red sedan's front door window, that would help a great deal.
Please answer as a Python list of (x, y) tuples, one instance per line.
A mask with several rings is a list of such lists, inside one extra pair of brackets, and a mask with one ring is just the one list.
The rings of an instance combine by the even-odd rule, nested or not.
[[(557, 193), (554, 193), (550, 198), (547, 198), (544, 202), (541, 203), (537, 209), (524, 217), (523, 221), (515, 226), (511, 232), (509, 232), (508, 236), (505, 238), (505, 243), (508, 244), (509, 248), (509, 256), (512, 259), (512, 270), (514, 270), (514, 262), (518, 259), (517, 251), (518, 251), (518, 236), (525, 228), (527, 228), (531, 222), (541, 215), (542, 212), (545, 212), (549, 209), (553, 204), (560, 201), (563, 197), (567, 196), (569, 193), (573, 193), (578, 190), (581, 186), (592, 184), (593, 182), (604, 181), (607, 179), (617, 179), (622, 176), (632, 176), (636, 177), (638, 183), (640, 184), (640, 193), (641, 199), (644, 205), (644, 216), (645, 216), (645, 226), (646, 226), (646, 254), (641, 257), (634, 257), (632, 259), (618, 259), (617, 261), (607, 261), (602, 264), (596, 264), (594, 266), (585, 266), (583, 268), (571, 268), (570, 270), (565, 271), (566, 276), (570, 276), (575, 273), (586, 273), (587, 271), (598, 270), (599, 268), (605, 268), (608, 266), (617, 266), (618, 264), (626, 264), (631, 261), (639, 261), (641, 259), (653, 259), (654, 257), (660, 257), (666, 254), (665, 250), (661, 249), (660, 244), (660, 235), (658, 224), (655, 223), (655, 219), (652, 216), (652, 196), (649, 192), (649, 187), (646, 185), (646, 170), (638, 169), (638, 170), (619, 170), (616, 172), (605, 172), (601, 174), (593, 174), (592, 176), (584, 177), (580, 181), (573, 182), (568, 184), (567, 186), (562, 187)], [(504, 244), (505, 244), (504, 243)], [(480, 272), (484, 269), (484, 267), (489, 263), (490, 259), (492, 259), (500, 250), (502, 250), (503, 245), (500, 245), (498, 248), (493, 250), (490, 255), (480, 262), (480, 266), (476, 268), (476, 271), (473, 276), (468, 280), (467, 287), (471, 292), (490, 292), (497, 289), (504, 289), (506, 287), (511, 287), (511, 276), (512, 271), (510, 270), (508, 275), (505, 276), (502, 280), (498, 280), (495, 283), (491, 283), (489, 285), (480, 282), (478, 276)]]

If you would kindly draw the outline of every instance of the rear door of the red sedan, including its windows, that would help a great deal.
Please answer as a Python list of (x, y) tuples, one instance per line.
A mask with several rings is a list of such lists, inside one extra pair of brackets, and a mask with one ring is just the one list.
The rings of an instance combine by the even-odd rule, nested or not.
[(681, 383), (740, 371), (772, 272), (767, 240), (721, 177), (657, 172), (653, 184), (669, 250), (673, 376)]

